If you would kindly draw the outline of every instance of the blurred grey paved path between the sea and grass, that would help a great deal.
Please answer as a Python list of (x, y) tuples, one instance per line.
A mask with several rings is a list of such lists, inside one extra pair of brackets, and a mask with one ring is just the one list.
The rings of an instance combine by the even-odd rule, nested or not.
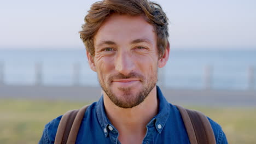
[[(256, 106), (256, 91), (213, 91), (162, 88), (172, 104)], [(97, 101), (99, 87), (0, 86), (0, 98)]]

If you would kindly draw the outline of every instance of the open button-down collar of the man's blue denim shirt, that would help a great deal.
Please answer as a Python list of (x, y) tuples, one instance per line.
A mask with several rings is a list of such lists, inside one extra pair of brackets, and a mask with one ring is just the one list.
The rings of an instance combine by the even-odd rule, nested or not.
[[(154, 124), (156, 130), (159, 133), (161, 133), (162, 129), (164, 129), (165, 123), (170, 114), (170, 105), (168, 104), (168, 101), (165, 99), (164, 95), (162, 94), (158, 86), (156, 86), (156, 90), (157, 90), (157, 97), (159, 100), (158, 115), (156, 115), (147, 124), (147, 127)], [(97, 113), (98, 122), (100, 123), (101, 128), (104, 131), (104, 134), (106, 137), (108, 136), (109, 126), (113, 128), (112, 130), (113, 133), (118, 133), (117, 129), (113, 127), (113, 125), (109, 122), (109, 119), (107, 118), (106, 111), (104, 108), (103, 95), (101, 96), (100, 100), (98, 100), (98, 103), (96, 106), (96, 113)]]

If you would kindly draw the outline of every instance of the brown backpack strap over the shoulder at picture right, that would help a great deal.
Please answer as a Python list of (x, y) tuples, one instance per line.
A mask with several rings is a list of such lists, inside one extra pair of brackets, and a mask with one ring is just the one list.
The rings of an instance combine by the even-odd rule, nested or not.
[(188, 110), (178, 106), (185, 128), (187, 130), (189, 141), (192, 144), (216, 144), (214, 133), (208, 118), (203, 113), (195, 110)]

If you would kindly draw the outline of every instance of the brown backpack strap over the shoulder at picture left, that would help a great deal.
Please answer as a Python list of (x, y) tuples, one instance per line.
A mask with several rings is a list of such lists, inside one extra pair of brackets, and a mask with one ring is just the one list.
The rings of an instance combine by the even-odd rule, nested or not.
[(60, 121), (57, 129), (55, 144), (75, 143), (80, 124), (84, 118), (84, 113), (89, 105), (82, 107), (80, 110), (71, 110), (66, 112)]

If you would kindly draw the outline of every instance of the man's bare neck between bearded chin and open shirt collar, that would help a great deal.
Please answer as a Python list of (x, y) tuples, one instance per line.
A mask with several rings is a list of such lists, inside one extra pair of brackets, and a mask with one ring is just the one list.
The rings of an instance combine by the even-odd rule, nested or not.
[(146, 125), (158, 113), (156, 87), (141, 104), (130, 109), (113, 104), (106, 93), (103, 92), (103, 95), (106, 114), (109, 121), (119, 131), (119, 141), (121, 143), (141, 143), (147, 132)]

